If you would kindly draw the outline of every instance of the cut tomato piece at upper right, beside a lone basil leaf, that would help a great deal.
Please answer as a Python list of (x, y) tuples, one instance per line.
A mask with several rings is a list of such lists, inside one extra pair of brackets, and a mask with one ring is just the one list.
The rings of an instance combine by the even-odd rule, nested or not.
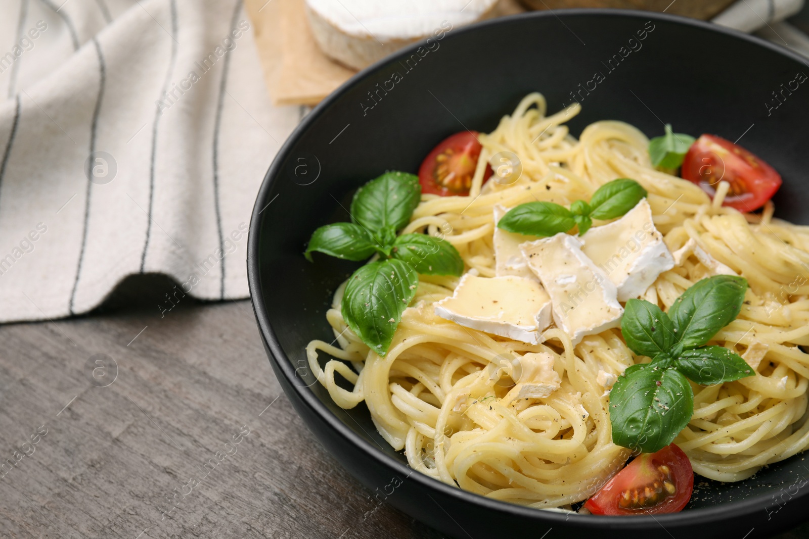
[(716, 135), (702, 135), (691, 145), (683, 160), (682, 176), (712, 197), (720, 181), (730, 183), (722, 205), (739, 212), (760, 208), (781, 187), (781, 176), (772, 166)]

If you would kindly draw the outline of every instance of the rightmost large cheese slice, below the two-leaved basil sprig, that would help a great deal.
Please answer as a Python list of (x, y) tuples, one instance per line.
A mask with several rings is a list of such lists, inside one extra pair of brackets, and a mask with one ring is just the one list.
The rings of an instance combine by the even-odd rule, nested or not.
[(641, 296), (661, 273), (674, 267), (646, 199), (621, 219), (589, 229), (582, 242), (584, 254), (615, 283), (618, 301)]

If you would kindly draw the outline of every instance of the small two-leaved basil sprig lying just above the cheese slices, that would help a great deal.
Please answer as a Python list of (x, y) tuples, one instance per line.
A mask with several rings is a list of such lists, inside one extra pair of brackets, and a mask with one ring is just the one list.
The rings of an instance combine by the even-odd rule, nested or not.
[(582, 235), (593, 219), (621, 217), (646, 196), (646, 189), (633, 179), (613, 179), (599, 187), (587, 204), (575, 200), (570, 209), (553, 202), (527, 202), (511, 208), (498, 221), (498, 228), (526, 236), (553, 236), (578, 225)]

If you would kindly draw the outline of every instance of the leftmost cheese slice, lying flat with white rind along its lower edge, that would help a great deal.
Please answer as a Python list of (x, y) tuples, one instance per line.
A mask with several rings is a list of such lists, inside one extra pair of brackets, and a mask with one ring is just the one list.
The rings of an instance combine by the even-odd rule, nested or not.
[(543, 341), (551, 300), (536, 280), (517, 276), (461, 277), (455, 293), (434, 304), (435, 314), (460, 326), (523, 343)]

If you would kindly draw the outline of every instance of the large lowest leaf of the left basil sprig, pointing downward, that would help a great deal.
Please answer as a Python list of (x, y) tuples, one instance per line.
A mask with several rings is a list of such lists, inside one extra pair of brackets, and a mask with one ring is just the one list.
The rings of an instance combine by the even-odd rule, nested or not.
[(385, 356), (417, 285), (418, 274), (401, 260), (366, 264), (345, 285), (343, 318), (363, 343)]

